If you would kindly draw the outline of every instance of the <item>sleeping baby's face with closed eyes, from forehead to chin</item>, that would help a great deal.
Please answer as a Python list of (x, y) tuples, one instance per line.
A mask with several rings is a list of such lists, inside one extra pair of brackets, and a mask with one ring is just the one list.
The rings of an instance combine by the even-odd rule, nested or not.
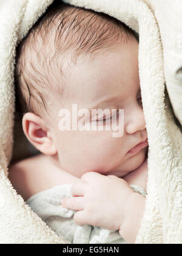
[[(60, 96), (60, 102), (50, 99), (49, 103), (59, 166), (76, 177), (89, 171), (123, 177), (144, 162), (147, 152), (147, 147), (129, 152), (147, 139), (140, 99), (138, 42), (132, 38), (92, 62), (78, 62), (71, 70), (64, 76), (64, 96)], [(114, 138), (113, 130), (59, 130), (58, 112), (67, 108), (72, 113), (72, 104), (77, 104), (78, 110), (124, 109), (123, 136)]]

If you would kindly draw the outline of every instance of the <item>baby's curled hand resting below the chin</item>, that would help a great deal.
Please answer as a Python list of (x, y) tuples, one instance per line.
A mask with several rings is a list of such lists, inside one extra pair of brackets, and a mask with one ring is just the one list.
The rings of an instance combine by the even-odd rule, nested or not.
[(119, 230), (126, 202), (133, 193), (123, 179), (87, 172), (72, 186), (73, 197), (62, 199), (62, 207), (78, 210), (73, 217), (78, 225)]

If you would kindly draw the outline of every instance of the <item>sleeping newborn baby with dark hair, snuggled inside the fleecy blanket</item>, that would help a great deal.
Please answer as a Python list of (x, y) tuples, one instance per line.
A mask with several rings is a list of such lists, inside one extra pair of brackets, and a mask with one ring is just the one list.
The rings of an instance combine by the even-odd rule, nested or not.
[[(55, 1), (17, 52), (22, 128), (41, 154), (10, 166), (13, 187), (33, 208), (36, 195), (70, 185), (70, 196), (60, 190), (56, 201), (64, 213), (72, 212), (66, 218), (72, 216), (77, 226), (116, 230), (134, 243), (145, 196), (130, 185), (146, 188), (148, 146), (135, 32), (103, 13)], [(112, 130), (60, 130), (59, 110), (71, 112), (72, 104), (124, 109), (123, 136), (112, 137)], [(112, 118), (92, 116), (88, 122), (106, 126)], [(44, 208), (41, 202), (36, 205)]]

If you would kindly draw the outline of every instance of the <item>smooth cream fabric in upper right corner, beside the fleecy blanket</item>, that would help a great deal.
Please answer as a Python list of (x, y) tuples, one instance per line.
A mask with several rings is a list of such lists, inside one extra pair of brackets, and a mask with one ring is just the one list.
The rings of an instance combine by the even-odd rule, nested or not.
[(182, 125), (182, 2), (144, 0), (152, 9), (160, 28), (164, 52), (164, 74), (170, 101)]

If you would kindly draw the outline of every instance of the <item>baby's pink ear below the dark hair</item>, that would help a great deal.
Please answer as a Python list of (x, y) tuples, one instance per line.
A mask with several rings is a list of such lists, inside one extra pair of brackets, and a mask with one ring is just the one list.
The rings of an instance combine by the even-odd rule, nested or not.
[(41, 117), (34, 113), (25, 113), (22, 118), (22, 128), (30, 143), (42, 154), (55, 155), (57, 153), (51, 133)]

